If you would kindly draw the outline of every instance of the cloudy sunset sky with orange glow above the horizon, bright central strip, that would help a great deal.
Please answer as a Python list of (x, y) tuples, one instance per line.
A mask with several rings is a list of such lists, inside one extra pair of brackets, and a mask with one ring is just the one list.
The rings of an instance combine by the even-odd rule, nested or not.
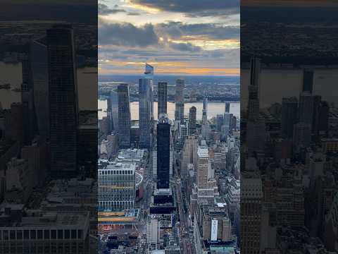
[(99, 73), (238, 75), (239, 0), (99, 0)]

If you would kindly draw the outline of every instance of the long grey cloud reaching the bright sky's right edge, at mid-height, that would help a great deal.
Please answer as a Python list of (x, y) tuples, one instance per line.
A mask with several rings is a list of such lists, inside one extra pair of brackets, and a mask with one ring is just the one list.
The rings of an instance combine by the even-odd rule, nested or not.
[(239, 26), (224, 26), (214, 23), (184, 24), (168, 22), (156, 25), (156, 30), (175, 39), (179, 39), (183, 35), (204, 35), (216, 40), (239, 39)]

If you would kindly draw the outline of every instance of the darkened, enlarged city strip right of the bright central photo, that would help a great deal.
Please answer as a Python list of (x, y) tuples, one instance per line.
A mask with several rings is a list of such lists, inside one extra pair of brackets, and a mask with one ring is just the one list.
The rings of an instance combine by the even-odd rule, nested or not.
[(242, 1), (242, 253), (337, 253), (337, 12)]

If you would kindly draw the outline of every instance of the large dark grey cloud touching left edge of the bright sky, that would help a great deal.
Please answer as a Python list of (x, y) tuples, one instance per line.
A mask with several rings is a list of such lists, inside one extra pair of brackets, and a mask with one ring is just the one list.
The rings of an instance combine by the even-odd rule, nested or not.
[(154, 26), (151, 24), (138, 28), (130, 23), (106, 23), (101, 20), (99, 25), (99, 44), (147, 47), (158, 44), (158, 37), (154, 32)]

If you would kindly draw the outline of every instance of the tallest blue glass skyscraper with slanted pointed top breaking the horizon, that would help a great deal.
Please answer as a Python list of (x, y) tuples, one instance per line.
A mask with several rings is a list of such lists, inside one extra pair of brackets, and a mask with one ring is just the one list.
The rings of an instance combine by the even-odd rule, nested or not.
[(152, 145), (153, 111), (153, 75), (154, 68), (146, 64), (144, 78), (139, 80), (139, 146), (150, 148)]

